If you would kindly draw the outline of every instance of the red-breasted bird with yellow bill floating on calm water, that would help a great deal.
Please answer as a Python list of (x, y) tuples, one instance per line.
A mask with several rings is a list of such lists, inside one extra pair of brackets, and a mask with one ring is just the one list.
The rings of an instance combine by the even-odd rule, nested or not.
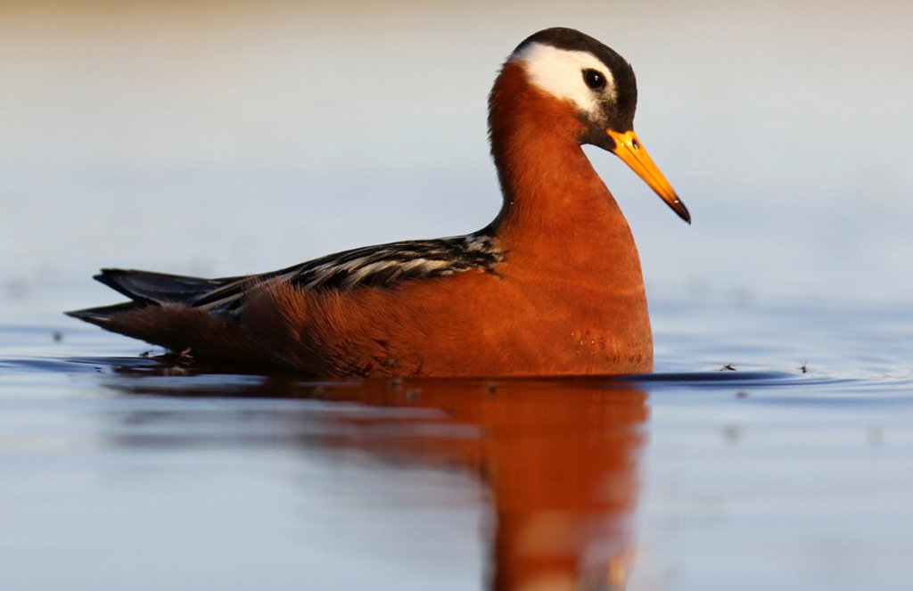
[(635, 375), (653, 337), (631, 229), (582, 146), (690, 224), (634, 131), (634, 69), (578, 30), (524, 39), (488, 95), (503, 202), (457, 237), (205, 279), (102, 269), (130, 301), (68, 315), (194, 359), (321, 378)]

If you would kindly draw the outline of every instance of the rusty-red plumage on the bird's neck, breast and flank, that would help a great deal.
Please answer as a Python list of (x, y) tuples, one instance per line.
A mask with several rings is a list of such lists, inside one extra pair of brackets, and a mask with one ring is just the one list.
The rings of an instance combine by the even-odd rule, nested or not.
[(568, 100), (509, 61), (490, 96), (504, 206), (491, 269), (383, 286), (307, 289), (266, 280), (236, 316), (193, 303), (89, 322), (152, 343), (318, 376), (632, 374), (653, 368), (634, 239), (582, 151)]

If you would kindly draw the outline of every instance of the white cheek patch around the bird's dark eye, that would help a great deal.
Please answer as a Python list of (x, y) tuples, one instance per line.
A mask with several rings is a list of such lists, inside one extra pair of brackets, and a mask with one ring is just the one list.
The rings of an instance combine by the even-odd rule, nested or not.
[[(526, 68), (530, 83), (560, 99), (572, 100), (577, 107), (593, 117), (601, 111), (598, 97), (615, 100), (615, 80), (602, 60), (587, 51), (572, 51), (530, 43), (510, 56)], [(605, 77), (605, 88), (591, 90), (583, 81), (583, 70), (594, 69)]]

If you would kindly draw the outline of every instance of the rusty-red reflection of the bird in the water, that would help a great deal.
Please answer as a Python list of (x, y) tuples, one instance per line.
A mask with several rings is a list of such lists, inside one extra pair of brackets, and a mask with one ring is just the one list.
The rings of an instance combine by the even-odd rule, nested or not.
[(146, 377), (110, 384), (130, 394), (303, 398), (383, 410), (335, 415), (338, 428), (303, 445), (395, 454), (423, 468), (456, 463), (478, 474), (494, 517), (488, 588), (624, 588), (648, 417), (639, 390), (608, 379), (313, 384), (274, 376), (214, 384), (172, 375), (157, 384), (160, 372), (139, 373)]

